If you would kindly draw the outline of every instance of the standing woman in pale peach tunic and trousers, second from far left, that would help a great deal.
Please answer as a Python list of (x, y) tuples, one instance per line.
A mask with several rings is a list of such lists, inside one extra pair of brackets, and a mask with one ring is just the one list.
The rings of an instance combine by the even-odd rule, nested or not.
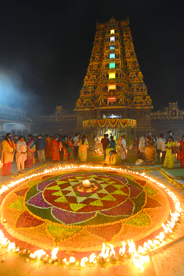
[(27, 171), (24, 169), (24, 161), (27, 159), (27, 147), (23, 136), (20, 136), (19, 141), (16, 143), (16, 151), (17, 169), (20, 174), (20, 167), (22, 167), (22, 171)]

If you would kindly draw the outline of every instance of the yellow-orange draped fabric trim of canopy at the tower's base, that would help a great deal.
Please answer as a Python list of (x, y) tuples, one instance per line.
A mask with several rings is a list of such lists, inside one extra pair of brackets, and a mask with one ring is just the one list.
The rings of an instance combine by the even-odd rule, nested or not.
[(101, 119), (101, 120), (86, 120), (83, 121), (83, 128), (97, 127), (122, 127), (125, 128), (129, 126), (131, 128), (136, 128), (137, 121), (133, 119)]

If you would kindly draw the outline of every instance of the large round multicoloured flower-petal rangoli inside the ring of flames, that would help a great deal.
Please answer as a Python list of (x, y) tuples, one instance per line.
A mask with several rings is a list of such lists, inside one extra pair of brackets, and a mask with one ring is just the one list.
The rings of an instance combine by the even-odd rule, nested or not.
[[(91, 186), (84, 188), (82, 182)], [(0, 228), (30, 250), (98, 251), (161, 232), (174, 204), (157, 185), (117, 171), (72, 169), (33, 178), (0, 198)], [(6, 220), (6, 223), (3, 223)]]

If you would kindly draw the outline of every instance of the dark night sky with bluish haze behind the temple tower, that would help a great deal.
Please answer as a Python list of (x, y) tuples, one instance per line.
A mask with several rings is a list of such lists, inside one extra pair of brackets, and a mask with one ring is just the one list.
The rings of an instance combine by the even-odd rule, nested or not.
[[(96, 21), (129, 16), (154, 111), (183, 97), (183, 4), (178, 1), (1, 1), (0, 103), (29, 114), (74, 108)], [(180, 6), (182, 5), (182, 6)]]

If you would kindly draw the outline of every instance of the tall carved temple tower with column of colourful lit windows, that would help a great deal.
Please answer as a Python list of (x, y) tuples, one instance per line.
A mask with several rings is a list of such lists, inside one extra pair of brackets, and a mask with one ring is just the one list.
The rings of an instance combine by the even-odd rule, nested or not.
[(89, 119), (137, 120), (137, 133), (151, 131), (152, 101), (132, 43), (129, 17), (108, 23), (97, 21), (90, 64), (76, 103), (76, 130)]

